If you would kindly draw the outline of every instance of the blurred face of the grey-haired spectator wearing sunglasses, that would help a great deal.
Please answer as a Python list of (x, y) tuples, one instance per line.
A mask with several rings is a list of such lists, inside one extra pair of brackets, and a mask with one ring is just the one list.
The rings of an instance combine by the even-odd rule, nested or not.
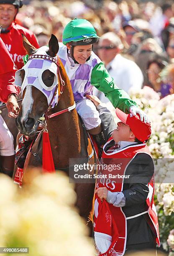
[(115, 47), (109, 39), (103, 39), (101, 42), (99, 42), (98, 54), (100, 59), (104, 61), (105, 64), (112, 61), (117, 53), (117, 47)]

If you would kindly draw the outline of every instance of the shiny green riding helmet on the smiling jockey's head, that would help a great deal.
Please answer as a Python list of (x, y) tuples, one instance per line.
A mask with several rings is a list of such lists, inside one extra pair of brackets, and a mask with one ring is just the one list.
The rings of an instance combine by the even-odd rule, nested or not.
[(71, 20), (63, 31), (62, 43), (66, 45), (87, 45), (97, 42), (97, 33), (95, 28), (88, 20), (77, 19)]

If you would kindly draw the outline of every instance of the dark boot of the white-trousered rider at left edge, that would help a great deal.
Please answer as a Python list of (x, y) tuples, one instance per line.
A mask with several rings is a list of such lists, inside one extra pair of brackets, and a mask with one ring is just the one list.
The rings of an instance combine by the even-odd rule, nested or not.
[(12, 178), (15, 164), (15, 155), (0, 156), (0, 171)]

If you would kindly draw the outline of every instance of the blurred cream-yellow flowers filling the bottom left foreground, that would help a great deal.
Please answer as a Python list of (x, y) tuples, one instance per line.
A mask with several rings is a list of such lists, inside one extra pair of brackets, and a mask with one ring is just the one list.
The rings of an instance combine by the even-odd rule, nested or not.
[(17, 189), (0, 175), (0, 246), (15, 247), (17, 242), (34, 256), (94, 255), (87, 227), (73, 206), (69, 179), (45, 174), (31, 180)]

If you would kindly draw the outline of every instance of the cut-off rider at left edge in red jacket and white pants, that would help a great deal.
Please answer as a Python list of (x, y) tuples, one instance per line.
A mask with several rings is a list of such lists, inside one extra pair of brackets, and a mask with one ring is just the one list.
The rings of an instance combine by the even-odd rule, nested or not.
[[(3, 40), (0, 38), (0, 100), (7, 104), (11, 116), (18, 115), (18, 87), (15, 86), (15, 65)], [(13, 114), (12, 114), (13, 113)], [(15, 163), (13, 136), (0, 115), (0, 172), (12, 177)]]

